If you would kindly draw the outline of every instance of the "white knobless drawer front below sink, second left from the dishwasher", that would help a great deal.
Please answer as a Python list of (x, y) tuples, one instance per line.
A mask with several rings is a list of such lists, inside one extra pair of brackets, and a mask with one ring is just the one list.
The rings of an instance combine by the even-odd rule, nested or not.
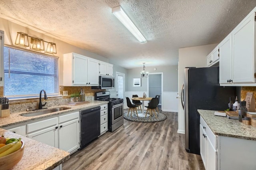
[(30, 123), (27, 125), (27, 133), (30, 133), (42, 128), (55, 126), (55, 125), (58, 125), (58, 117), (54, 117), (51, 119), (47, 119), (47, 120), (39, 121), (35, 123)]

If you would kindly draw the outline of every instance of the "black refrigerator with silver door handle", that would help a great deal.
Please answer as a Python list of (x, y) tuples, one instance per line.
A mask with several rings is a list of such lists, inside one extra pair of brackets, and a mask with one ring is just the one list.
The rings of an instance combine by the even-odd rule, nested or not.
[(236, 87), (219, 84), (219, 67), (186, 67), (182, 86), (182, 107), (185, 113), (185, 149), (200, 154), (200, 115), (197, 109), (224, 111), (229, 97), (233, 102)]

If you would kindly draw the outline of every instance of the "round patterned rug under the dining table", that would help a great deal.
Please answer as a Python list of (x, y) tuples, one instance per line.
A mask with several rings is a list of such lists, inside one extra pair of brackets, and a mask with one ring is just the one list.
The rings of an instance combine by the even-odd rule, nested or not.
[[(146, 111), (144, 111), (144, 113), (146, 113)], [(138, 111), (138, 114), (142, 114), (141, 111)], [(157, 118), (155, 117), (155, 114), (153, 114), (151, 116), (151, 119), (149, 119), (149, 115), (147, 114), (147, 117), (137, 117), (136, 113), (132, 113), (132, 117), (131, 117), (131, 111), (129, 113), (128, 116), (128, 111), (126, 111), (124, 113), (124, 119), (128, 120), (128, 121), (135, 121), (135, 122), (160, 122), (160, 121), (164, 121), (167, 117), (166, 115), (164, 115), (164, 113), (158, 113), (156, 112)]]

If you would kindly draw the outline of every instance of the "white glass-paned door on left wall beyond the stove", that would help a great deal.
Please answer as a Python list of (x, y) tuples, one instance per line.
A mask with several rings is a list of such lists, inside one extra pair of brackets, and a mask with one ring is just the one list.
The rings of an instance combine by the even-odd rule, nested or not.
[(116, 98), (124, 99), (124, 73), (116, 72)]

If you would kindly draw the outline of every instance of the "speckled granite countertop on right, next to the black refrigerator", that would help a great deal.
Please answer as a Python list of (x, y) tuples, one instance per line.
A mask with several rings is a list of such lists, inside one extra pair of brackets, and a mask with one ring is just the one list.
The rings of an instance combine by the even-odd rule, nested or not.
[(256, 127), (245, 125), (238, 120), (215, 116), (215, 111), (197, 110), (215, 135), (256, 140)]

